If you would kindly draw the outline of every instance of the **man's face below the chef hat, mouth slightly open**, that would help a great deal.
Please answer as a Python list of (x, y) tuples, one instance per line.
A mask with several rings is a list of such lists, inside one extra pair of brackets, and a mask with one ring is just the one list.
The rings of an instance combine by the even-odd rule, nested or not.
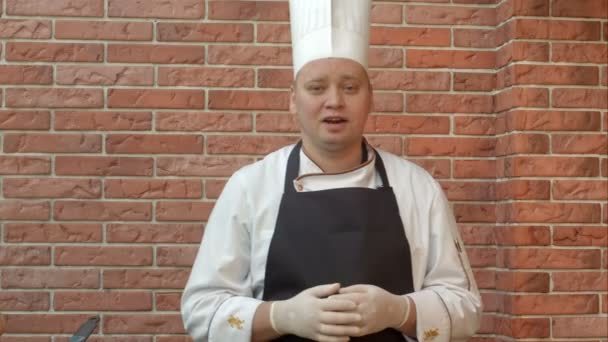
[(340, 151), (361, 144), (371, 106), (367, 72), (350, 59), (312, 61), (300, 69), (292, 87), (290, 111), (308, 148)]

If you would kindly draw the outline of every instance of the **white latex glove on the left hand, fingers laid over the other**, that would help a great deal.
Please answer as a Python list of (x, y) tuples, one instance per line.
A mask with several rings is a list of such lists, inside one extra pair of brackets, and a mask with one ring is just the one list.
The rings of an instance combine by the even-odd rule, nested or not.
[(349, 341), (359, 333), (361, 316), (347, 299), (326, 298), (336, 294), (340, 284), (319, 285), (294, 297), (276, 301), (270, 307), (270, 322), (279, 334), (293, 334), (323, 342)]

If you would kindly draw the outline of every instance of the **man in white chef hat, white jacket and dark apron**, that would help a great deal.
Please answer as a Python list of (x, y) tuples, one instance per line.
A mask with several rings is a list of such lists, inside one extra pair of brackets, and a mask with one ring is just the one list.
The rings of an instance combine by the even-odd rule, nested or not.
[(292, 0), (302, 140), (226, 184), (182, 298), (196, 341), (465, 340), (481, 302), (441, 188), (363, 139), (370, 0)]

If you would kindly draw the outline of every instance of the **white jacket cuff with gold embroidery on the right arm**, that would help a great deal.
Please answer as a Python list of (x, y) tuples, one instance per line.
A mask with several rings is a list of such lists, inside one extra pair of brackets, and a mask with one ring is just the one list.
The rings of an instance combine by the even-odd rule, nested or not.
[(413, 292), (407, 296), (416, 304), (418, 341), (449, 342), (452, 335), (452, 324), (441, 297), (433, 290)]

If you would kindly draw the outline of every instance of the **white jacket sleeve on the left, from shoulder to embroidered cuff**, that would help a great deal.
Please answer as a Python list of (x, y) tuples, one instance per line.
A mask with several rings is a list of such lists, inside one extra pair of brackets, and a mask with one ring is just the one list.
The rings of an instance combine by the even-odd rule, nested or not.
[(194, 341), (250, 341), (260, 300), (253, 298), (250, 206), (238, 172), (227, 182), (209, 217), (184, 289), (181, 312)]

